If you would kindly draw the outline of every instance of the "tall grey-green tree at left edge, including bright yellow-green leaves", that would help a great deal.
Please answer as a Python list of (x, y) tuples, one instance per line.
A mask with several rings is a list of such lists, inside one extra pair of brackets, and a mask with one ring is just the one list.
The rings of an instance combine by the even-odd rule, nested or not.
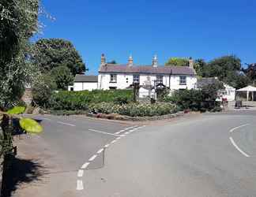
[(35, 66), (28, 62), (32, 48), (29, 38), (37, 30), (38, 0), (2, 0), (0, 2), (0, 115), (1, 156), (3, 156), (1, 196), (9, 196), (8, 168), (13, 157), (13, 117), (27, 132), (40, 132), (36, 121), (19, 117), (24, 107), (14, 107), (21, 99), (24, 84), (32, 80)]

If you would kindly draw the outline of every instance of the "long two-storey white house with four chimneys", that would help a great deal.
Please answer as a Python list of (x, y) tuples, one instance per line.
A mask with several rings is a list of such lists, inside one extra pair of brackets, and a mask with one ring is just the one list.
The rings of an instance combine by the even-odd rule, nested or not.
[(171, 90), (194, 88), (197, 77), (193, 60), (190, 59), (189, 65), (163, 66), (158, 65), (155, 56), (152, 59), (152, 65), (134, 65), (134, 60), (130, 57), (127, 64), (114, 65), (106, 63), (104, 54), (101, 56), (99, 89), (126, 89), (134, 83), (140, 84), (141, 90), (145, 89), (145, 94), (140, 94), (140, 97), (148, 95), (147, 87), (156, 87), (159, 84)]

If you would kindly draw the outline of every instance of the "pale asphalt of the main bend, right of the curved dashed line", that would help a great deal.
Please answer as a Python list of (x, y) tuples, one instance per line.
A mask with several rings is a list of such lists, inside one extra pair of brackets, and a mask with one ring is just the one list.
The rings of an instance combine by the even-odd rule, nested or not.
[(205, 114), (149, 125), (110, 147), (104, 168), (86, 171), (83, 196), (256, 196), (255, 118)]

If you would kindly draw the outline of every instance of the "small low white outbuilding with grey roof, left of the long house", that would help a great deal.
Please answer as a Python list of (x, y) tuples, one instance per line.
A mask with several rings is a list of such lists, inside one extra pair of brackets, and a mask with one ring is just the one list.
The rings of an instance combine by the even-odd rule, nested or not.
[(69, 91), (92, 91), (98, 89), (98, 76), (76, 75)]

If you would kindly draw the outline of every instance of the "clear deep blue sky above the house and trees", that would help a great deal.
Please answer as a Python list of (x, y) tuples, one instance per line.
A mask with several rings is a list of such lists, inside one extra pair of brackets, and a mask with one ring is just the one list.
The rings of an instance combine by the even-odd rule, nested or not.
[(235, 54), (256, 62), (254, 0), (43, 0), (55, 21), (41, 18), (40, 37), (70, 40), (96, 74), (100, 54), (107, 61), (160, 64), (170, 57), (206, 61)]

